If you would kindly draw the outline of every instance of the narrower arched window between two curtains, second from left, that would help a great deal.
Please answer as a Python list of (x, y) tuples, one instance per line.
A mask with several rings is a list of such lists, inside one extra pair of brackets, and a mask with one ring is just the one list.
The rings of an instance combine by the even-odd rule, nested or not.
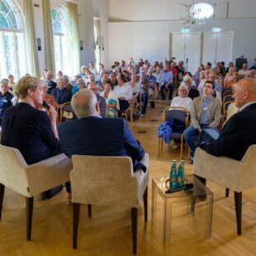
[(67, 37), (67, 11), (58, 6), (51, 11), (51, 21), (55, 44), (55, 67), (69, 74), (69, 47)]

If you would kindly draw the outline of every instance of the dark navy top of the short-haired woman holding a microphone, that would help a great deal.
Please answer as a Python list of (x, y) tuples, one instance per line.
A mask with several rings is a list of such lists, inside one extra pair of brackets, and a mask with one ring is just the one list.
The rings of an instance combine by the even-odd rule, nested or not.
[(19, 149), (26, 164), (62, 153), (45, 111), (22, 102), (2, 116), (2, 145)]

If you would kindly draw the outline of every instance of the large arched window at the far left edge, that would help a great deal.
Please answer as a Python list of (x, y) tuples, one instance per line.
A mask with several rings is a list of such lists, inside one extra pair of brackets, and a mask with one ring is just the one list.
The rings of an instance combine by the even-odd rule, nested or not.
[(0, 0), (0, 78), (26, 73), (24, 31), (21, 13), (13, 1)]

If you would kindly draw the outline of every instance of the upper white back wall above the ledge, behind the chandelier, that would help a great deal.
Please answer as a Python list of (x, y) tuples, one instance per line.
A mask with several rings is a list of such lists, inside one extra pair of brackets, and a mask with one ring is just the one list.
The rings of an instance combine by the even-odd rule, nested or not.
[[(223, 15), (225, 2), (228, 2), (228, 17), (256, 17), (255, 0), (204, 0), (195, 1), (216, 3), (216, 17)], [(110, 21), (170, 21), (178, 20), (185, 11), (178, 3), (191, 4), (192, 0), (110, 0)]]

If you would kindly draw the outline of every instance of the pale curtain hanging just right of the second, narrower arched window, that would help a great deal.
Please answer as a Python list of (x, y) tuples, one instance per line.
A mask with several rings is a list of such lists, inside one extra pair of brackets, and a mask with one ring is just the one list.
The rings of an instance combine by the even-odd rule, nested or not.
[(68, 39), (69, 39), (69, 66), (70, 74), (79, 73), (79, 34), (78, 34), (78, 5), (73, 2), (67, 2), (68, 10)]

